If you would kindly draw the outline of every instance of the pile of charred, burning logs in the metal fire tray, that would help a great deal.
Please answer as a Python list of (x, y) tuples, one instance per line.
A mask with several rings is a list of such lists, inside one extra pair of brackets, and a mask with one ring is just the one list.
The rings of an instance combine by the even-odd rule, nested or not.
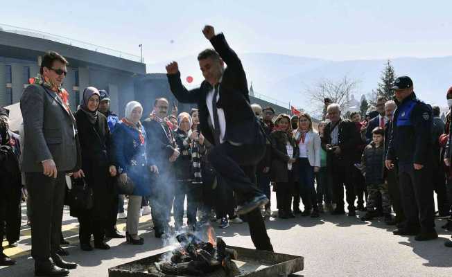
[[(209, 242), (204, 242), (193, 233), (176, 236), (180, 247), (174, 249), (169, 259), (155, 263), (148, 270), (153, 276), (224, 276), (234, 277), (240, 274), (232, 261), (237, 259), (237, 252), (226, 247), (221, 238), (216, 241), (214, 233), (207, 231)], [(218, 272), (218, 274), (217, 274)], [(214, 275), (211, 275), (214, 274)]]

